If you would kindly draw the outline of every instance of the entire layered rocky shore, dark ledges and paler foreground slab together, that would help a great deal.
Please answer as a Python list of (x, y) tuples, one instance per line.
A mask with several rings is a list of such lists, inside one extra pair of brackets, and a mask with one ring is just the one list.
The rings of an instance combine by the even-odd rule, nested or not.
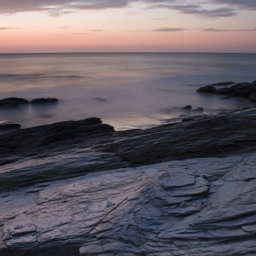
[(256, 108), (0, 136), (0, 255), (254, 255)]

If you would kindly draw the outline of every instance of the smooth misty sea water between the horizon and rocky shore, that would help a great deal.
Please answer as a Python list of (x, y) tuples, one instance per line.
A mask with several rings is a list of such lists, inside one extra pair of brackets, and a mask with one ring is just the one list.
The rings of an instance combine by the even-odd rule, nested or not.
[(57, 97), (58, 104), (0, 109), (22, 128), (100, 117), (116, 130), (146, 128), (194, 115), (252, 106), (247, 98), (195, 90), (219, 82), (253, 82), (255, 54), (77, 53), (0, 55), (0, 99)]

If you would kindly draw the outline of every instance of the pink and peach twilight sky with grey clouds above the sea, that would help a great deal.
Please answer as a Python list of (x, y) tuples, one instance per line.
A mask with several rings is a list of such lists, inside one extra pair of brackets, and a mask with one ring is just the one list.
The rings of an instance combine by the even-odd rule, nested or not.
[(0, 53), (256, 53), (255, 0), (0, 0)]

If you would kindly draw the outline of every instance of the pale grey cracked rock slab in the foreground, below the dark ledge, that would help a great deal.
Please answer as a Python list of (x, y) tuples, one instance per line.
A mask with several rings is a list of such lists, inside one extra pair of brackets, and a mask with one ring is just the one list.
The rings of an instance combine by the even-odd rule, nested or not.
[(1, 193), (0, 254), (253, 255), (256, 177), (243, 177), (255, 162), (171, 161)]

